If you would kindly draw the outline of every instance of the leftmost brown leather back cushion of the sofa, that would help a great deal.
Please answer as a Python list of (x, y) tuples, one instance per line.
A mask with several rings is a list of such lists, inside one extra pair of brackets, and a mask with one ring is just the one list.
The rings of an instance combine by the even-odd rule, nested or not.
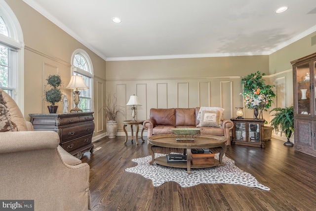
[(150, 118), (155, 120), (156, 125), (175, 126), (176, 124), (174, 108), (151, 108)]

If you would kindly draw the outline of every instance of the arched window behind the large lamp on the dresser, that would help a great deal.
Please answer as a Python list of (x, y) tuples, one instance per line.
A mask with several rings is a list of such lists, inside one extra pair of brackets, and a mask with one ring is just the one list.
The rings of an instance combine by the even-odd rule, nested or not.
[(82, 49), (77, 49), (72, 56), (73, 75), (82, 76), (88, 89), (80, 90), (79, 108), (82, 111), (93, 111), (93, 67), (89, 55)]

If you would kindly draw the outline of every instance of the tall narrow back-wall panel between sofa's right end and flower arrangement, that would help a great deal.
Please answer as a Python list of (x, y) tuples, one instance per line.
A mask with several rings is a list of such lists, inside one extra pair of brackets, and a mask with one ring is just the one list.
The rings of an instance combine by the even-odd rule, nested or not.
[(224, 119), (230, 119), (233, 116), (233, 98), (232, 98), (232, 82), (221, 82), (221, 107), (225, 109)]

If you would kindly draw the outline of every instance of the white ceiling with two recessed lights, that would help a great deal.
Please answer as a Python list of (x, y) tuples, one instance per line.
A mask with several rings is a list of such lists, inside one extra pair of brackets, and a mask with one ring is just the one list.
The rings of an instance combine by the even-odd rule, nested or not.
[(316, 31), (316, 0), (23, 1), (107, 61), (266, 55)]

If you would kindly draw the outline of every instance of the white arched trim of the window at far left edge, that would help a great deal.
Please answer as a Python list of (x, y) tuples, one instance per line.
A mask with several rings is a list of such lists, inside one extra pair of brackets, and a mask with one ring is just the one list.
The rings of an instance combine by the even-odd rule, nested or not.
[(16, 68), (13, 72), (16, 87), (14, 100), (24, 115), (24, 42), (22, 28), (14, 12), (4, 0), (0, 0), (0, 13), (10, 29), (11, 36), (10, 38), (3, 35), (0, 36), (0, 42), (17, 50)]

